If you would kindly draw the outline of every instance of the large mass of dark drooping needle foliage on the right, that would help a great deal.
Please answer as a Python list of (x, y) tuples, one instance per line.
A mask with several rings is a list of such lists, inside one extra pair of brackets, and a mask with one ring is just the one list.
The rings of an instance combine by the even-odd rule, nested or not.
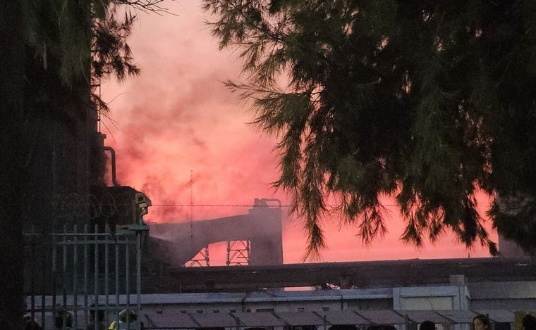
[(496, 201), (489, 214), (534, 249), (534, 1), (205, 0), (205, 9), (220, 47), (243, 59), (247, 82), (229, 87), (279, 137), (274, 185), (305, 219), (307, 256), (325, 246), (322, 218), (334, 212), (365, 243), (385, 234), (382, 196), (405, 217), (403, 241), (450, 230), (496, 255), (478, 191), (517, 197), (517, 211)]

